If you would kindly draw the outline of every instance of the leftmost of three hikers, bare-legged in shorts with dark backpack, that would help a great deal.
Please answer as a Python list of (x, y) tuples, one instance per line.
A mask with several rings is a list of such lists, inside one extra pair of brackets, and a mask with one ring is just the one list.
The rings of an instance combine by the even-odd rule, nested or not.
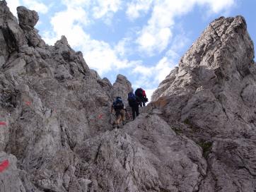
[(127, 109), (125, 109), (125, 106), (124, 106), (124, 103), (122, 102), (121, 97), (116, 97), (111, 107), (111, 113), (113, 112), (113, 110), (115, 110), (115, 116), (116, 116), (113, 126), (114, 128), (115, 126), (117, 126), (117, 128), (120, 128), (121, 123), (124, 125), (125, 113), (127, 113)]

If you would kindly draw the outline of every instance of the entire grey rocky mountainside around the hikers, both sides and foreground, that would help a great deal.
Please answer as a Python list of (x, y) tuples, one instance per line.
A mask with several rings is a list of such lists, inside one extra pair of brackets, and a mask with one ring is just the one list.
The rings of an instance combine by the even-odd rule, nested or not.
[[(219, 18), (135, 121), (112, 130), (111, 85), (0, 1), (0, 191), (255, 191), (255, 64), (242, 17)], [(8, 160), (8, 167), (1, 163)]]

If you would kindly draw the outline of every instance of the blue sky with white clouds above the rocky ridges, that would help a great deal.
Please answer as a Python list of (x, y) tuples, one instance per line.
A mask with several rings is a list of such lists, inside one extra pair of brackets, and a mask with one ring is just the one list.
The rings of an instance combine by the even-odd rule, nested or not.
[(255, 0), (6, 0), (26, 6), (47, 44), (65, 35), (90, 68), (115, 82), (122, 74), (148, 97), (203, 30), (220, 16), (242, 15), (256, 42)]

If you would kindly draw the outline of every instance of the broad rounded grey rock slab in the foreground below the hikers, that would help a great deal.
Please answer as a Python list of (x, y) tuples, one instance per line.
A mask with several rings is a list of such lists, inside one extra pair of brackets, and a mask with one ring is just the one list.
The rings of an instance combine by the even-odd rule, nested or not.
[[(202, 151), (158, 116), (139, 116), (122, 130), (77, 145), (91, 191), (197, 191), (206, 175)], [(86, 169), (83, 168), (86, 167)]]

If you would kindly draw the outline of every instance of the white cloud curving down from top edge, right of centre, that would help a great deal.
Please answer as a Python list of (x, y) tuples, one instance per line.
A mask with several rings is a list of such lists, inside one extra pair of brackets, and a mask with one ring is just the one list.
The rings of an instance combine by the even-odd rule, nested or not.
[[(137, 4), (140, 5), (141, 1), (137, 1)], [(219, 13), (230, 8), (233, 4), (235, 4), (235, 0), (154, 1), (151, 18), (139, 32), (139, 37), (136, 40), (139, 49), (149, 55), (158, 54), (166, 49), (171, 37), (173, 37), (172, 28), (175, 25), (175, 18), (189, 13), (195, 5), (206, 6), (211, 13)], [(136, 4), (133, 4), (133, 7), (136, 7)], [(129, 8), (128, 16), (132, 16)], [(133, 14), (135, 18), (138, 17), (138, 10), (135, 9)]]

